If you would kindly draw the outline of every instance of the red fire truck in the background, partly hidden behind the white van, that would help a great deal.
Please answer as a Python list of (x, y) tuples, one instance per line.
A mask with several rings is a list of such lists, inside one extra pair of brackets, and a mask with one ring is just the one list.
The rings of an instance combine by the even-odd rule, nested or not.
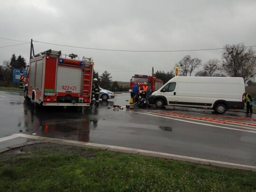
[[(154, 76), (149, 76), (149, 75), (137, 75), (135, 74), (132, 76), (130, 80), (130, 89), (129, 92), (132, 92), (133, 86), (139, 83), (140, 87), (144, 85), (144, 83), (150, 84), (151, 86), (151, 92), (157, 91), (160, 87), (163, 86), (163, 81), (161, 79), (157, 79)], [(142, 90), (140, 90), (142, 91)]]

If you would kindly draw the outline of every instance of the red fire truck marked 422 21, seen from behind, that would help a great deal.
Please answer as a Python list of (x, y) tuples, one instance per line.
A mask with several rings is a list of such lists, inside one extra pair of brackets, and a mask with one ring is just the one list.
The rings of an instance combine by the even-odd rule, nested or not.
[(94, 63), (77, 58), (55, 50), (31, 56), (30, 49), (24, 98), (43, 106), (90, 106)]

